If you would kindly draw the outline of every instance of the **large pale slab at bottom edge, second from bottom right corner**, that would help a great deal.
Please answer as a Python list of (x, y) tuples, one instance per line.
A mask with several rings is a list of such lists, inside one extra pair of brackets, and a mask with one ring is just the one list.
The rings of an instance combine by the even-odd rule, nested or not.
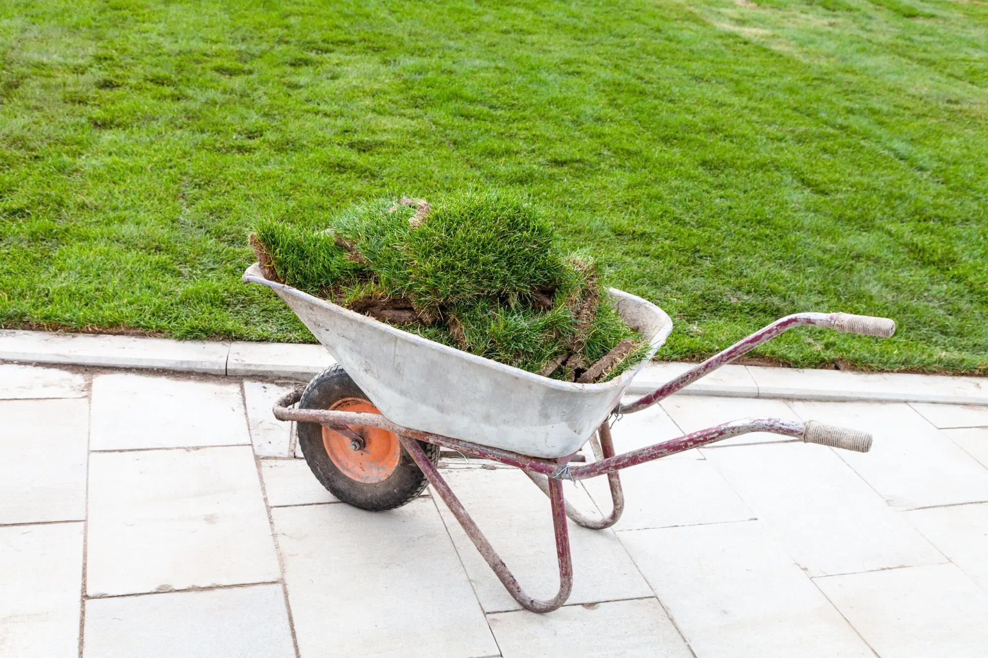
[(617, 534), (698, 658), (872, 658), (757, 521)]

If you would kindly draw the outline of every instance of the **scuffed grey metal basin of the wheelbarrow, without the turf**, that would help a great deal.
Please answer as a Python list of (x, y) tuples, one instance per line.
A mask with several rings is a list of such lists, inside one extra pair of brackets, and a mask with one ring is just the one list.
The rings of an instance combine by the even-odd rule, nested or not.
[[(257, 264), (247, 268), (243, 282), (275, 290), (392, 422), (531, 456), (579, 450), (647, 363), (605, 383), (549, 379), (268, 281)], [(621, 318), (648, 339), (650, 359), (672, 331), (672, 320), (641, 297), (609, 292)]]

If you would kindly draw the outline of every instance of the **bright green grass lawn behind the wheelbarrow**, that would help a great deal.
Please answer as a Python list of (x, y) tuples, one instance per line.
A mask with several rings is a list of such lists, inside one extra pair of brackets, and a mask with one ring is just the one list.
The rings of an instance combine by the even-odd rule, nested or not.
[(988, 372), (988, 5), (0, 4), (0, 324), (311, 341), (259, 217), (528, 193), (709, 355)]

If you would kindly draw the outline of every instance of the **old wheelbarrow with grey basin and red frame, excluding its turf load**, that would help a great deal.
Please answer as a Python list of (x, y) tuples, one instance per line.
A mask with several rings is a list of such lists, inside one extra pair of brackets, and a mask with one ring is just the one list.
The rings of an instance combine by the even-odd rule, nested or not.
[[(751, 432), (857, 452), (871, 447), (871, 436), (857, 430), (816, 421), (745, 418), (617, 454), (612, 417), (646, 409), (793, 327), (813, 325), (882, 338), (895, 331), (895, 323), (886, 318), (795, 313), (647, 395), (622, 402), (631, 379), (665, 342), (672, 320), (655, 304), (616, 288), (609, 290), (611, 301), (624, 322), (649, 342), (648, 359), (611, 381), (581, 384), (512, 368), (402, 331), (268, 281), (257, 264), (247, 269), (243, 281), (275, 290), (337, 361), (274, 406), (276, 418), (298, 423), (299, 446), (319, 482), (341, 501), (372, 511), (400, 507), (431, 484), (511, 596), (535, 613), (562, 606), (572, 588), (566, 518), (595, 530), (610, 528), (620, 518), (621, 468)], [(588, 441), (596, 460), (581, 463), (577, 452)], [(559, 564), (554, 597), (538, 600), (522, 589), (437, 468), (441, 448), (521, 468), (548, 496)], [(566, 503), (564, 480), (603, 475), (611, 488), (611, 514), (589, 518)]]

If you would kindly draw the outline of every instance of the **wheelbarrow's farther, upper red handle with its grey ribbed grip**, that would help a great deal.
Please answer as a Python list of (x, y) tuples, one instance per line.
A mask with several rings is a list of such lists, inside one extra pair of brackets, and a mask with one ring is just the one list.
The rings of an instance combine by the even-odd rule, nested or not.
[(667, 381), (651, 393), (643, 395), (629, 404), (619, 405), (617, 412), (630, 414), (650, 407), (659, 400), (665, 399), (676, 391), (689, 386), (713, 370), (717, 370), (721, 366), (726, 366), (735, 359), (743, 357), (759, 345), (771, 341), (783, 332), (793, 327), (805, 326), (826, 327), (844, 333), (865, 334), (867, 336), (879, 336), (881, 338), (889, 338), (895, 333), (895, 322), (884, 317), (852, 315), (850, 313), (794, 313), (792, 315), (786, 315), (772, 324), (759, 329), (751, 336), (741, 339), (726, 350), (713, 355), (699, 366), (691, 368), (678, 377)]

